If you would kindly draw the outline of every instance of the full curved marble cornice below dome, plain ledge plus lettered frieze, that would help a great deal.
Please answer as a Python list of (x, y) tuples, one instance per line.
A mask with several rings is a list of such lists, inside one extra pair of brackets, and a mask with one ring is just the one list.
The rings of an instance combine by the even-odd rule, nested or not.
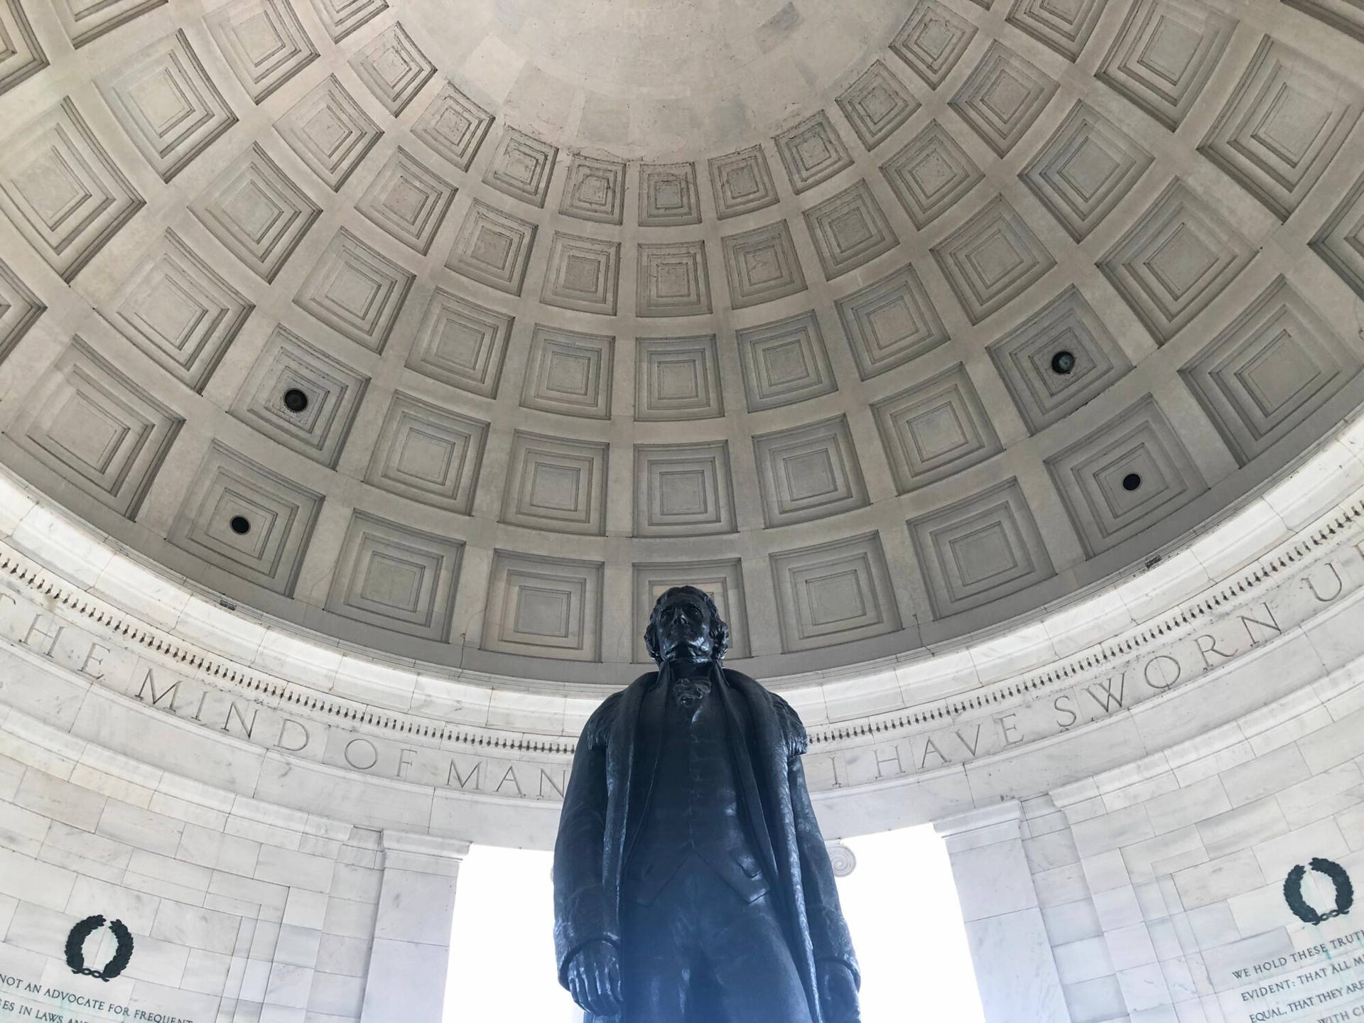
[[(1352, 427), (1159, 566), (1009, 636), (892, 671), (783, 679), (836, 833), (1118, 767), (1364, 655), (1346, 614), (1364, 595), (1361, 439)], [(473, 839), (487, 829), (506, 840), (531, 821), (529, 842), (547, 833), (595, 697), (341, 655), (207, 604), (14, 484), (0, 490), (0, 656), (12, 677), (48, 678), (0, 686), (15, 712), (191, 777), (203, 764), (214, 783), (222, 772), (284, 805), (330, 798), (319, 810), (349, 805)], [(1083, 642), (1087, 633), (1098, 641)], [(1151, 722), (1165, 731), (1143, 732)], [(147, 745), (166, 724), (175, 741)]]

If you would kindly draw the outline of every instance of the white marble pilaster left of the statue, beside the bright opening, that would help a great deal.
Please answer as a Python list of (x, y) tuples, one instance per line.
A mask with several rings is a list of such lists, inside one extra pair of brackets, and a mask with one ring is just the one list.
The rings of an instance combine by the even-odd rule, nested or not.
[(454, 888), (468, 842), (383, 832), (361, 1023), (441, 1023)]

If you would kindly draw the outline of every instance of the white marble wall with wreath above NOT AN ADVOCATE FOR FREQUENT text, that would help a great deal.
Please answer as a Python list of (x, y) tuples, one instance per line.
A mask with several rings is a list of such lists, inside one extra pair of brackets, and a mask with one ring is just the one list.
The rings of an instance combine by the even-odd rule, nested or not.
[[(0, 1016), (342, 1023), (397, 1012), (434, 1023), (451, 851), (462, 847), (412, 848), (236, 797), (0, 709)], [(93, 915), (109, 923), (83, 943), (86, 968), (116, 955), (112, 921), (134, 944), (105, 982), (67, 958), (72, 928)], [(426, 963), (441, 960), (434, 1008), (390, 992), (367, 1012), (371, 956), (417, 962), (423, 949)]]

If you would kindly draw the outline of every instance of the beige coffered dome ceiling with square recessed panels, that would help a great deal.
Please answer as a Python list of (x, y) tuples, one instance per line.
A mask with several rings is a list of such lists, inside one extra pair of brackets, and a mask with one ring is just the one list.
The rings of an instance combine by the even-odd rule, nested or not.
[(764, 678), (1140, 567), (1364, 401), (1354, 0), (0, 4), (0, 460), (241, 611)]

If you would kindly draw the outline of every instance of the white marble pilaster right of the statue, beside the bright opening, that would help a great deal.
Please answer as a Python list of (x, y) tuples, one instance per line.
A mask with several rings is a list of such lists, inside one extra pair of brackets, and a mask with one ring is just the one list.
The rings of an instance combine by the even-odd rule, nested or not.
[(1023, 854), (1020, 803), (933, 827), (947, 842), (986, 1023), (1071, 1023)]

